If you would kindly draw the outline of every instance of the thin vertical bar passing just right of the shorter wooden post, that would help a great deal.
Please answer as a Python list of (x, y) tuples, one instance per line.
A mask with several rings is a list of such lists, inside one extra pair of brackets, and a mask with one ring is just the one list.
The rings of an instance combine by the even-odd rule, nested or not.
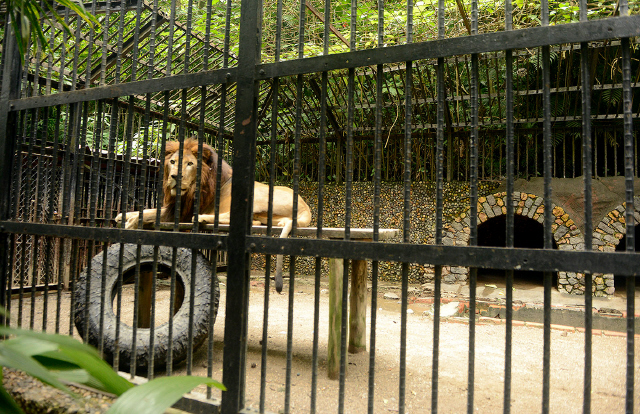
[[(378, 0), (378, 47), (384, 47), (384, 0)], [(326, 14), (325, 14), (326, 15)], [(326, 36), (326, 34), (325, 34)], [(378, 241), (380, 232), (380, 192), (382, 181), (382, 83), (384, 66), (376, 66), (376, 125), (374, 141), (373, 177), (373, 240)], [(378, 312), (378, 261), (371, 265), (371, 333), (369, 339), (369, 390), (368, 413), (374, 412), (375, 368), (376, 368), (376, 321)]]

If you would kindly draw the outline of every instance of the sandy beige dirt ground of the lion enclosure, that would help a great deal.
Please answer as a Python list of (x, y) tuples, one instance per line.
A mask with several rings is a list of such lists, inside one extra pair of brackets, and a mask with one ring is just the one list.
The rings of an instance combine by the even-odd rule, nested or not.
[[(224, 282), (224, 278), (222, 278)], [(323, 280), (326, 282), (326, 279)], [(398, 411), (399, 355), (401, 315), (398, 300), (384, 299), (391, 288), (381, 289), (378, 299), (375, 350), (375, 412)], [(284, 292), (288, 292), (285, 281)], [(396, 291), (399, 293), (399, 291)], [(213, 377), (222, 379), (222, 351), (225, 314), (225, 286), (221, 284), (220, 308), (214, 330), (215, 355)], [(124, 294), (123, 303), (129, 306)], [(164, 296), (163, 296), (164, 295)], [(288, 294), (273, 291), (269, 305), (269, 341), (266, 382), (266, 408), (269, 412), (282, 412), (285, 402), (286, 344)], [(336, 412), (339, 382), (326, 375), (329, 295), (323, 286), (320, 295), (319, 361), (317, 412)], [(166, 303), (165, 303), (166, 302)], [(248, 407), (258, 408), (260, 398), (260, 366), (264, 286), (259, 278), (252, 280), (249, 310), (249, 337), (247, 354)], [(370, 302), (369, 302), (370, 303)], [(13, 301), (13, 317), (17, 317), (17, 300)], [(34, 303), (36, 327), (42, 326), (43, 297)], [(63, 293), (60, 330), (68, 332), (69, 295)], [(31, 300), (22, 303), (23, 321), (28, 326)], [(297, 278), (294, 295), (293, 364), (291, 371), (291, 412), (308, 412), (311, 395), (311, 367), (313, 341), (313, 281)], [(48, 314), (54, 315), (55, 293), (49, 296)], [(159, 294), (158, 309), (168, 309), (168, 294)], [(431, 368), (433, 353), (433, 318), (430, 306), (424, 303), (409, 305), (407, 315), (407, 365), (405, 412), (431, 412)], [(126, 312), (125, 312), (126, 313)], [(370, 309), (367, 309), (367, 318)], [(158, 315), (160, 316), (160, 315)], [(126, 320), (126, 317), (125, 317)], [(15, 322), (15, 319), (14, 319)], [(369, 325), (370, 321), (367, 320)], [(53, 331), (55, 319), (48, 317), (48, 329)], [(370, 329), (370, 326), (368, 326)], [(367, 341), (369, 334), (367, 334)], [(466, 411), (469, 326), (464, 323), (440, 324), (440, 365), (438, 409), (443, 413)], [(478, 413), (502, 411), (504, 387), (504, 325), (476, 326), (475, 399)], [(369, 347), (367, 346), (369, 350)], [(514, 413), (540, 412), (542, 405), (542, 353), (543, 330), (536, 327), (514, 326), (511, 409)], [(635, 341), (636, 379), (635, 408), (640, 407), (640, 340)], [(553, 413), (582, 412), (582, 384), (584, 367), (584, 334), (552, 330), (551, 332), (551, 398)], [(176, 374), (185, 373), (184, 366)], [(207, 372), (206, 347), (194, 356), (194, 374)], [(593, 337), (592, 411), (600, 413), (624, 412), (626, 373), (626, 339), (617, 336)], [(367, 410), (369, 378), (369, 352), (350, 354), (345, 390), (345, 413), (363, 413)], [(197, 390), (204, 392), (204, 389)], [(214, 397), (220, 394), (214, 390)]]

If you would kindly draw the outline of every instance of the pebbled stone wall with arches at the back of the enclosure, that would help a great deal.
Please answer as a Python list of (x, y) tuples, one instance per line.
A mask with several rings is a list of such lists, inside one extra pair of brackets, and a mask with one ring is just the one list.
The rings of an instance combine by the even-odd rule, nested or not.
[[(536, 180), (523, 184), (519, 180), (514, 192), (515, 214), (528, 217), (539, 223), (543, 222), (544, 204), (543, 198), (537, 194), (522, 191), (523, 187), (531, 187)], [(601, 251), (615, 251), (616, 246), (624, 237), (625, 228), (625, 204), (618, 204), (610, 209), (619, 187), (623, 183), (620, 180), (608, 180), (599, 184), (604, 190), (598, 190), (594, 185), (594, 217), (593, 217), (593, 248)], [(581, 180), (554, 181), (556, 193), (552, 203), (552, 233), (559, 250), (584, 250), (584, 224), (581, 219), (584, 215), (579, 210), (580, 199), (579, 186)], [(286, 184), (285, 184), (286, 185)], [(501, 191), (504, 183), (481, 182), (478, 185), (478, 224), (484, 223), (496, 216), (506, 214), (506, 193)], [(575, 188), (574, 188), (575, 187)], [(571, 195), (571, 189), (574, 193)], [(518, 191), (520, 190), (520, 191)], [(403, 227), (403, 200), (404, 186), (402, 183), (382, 183), (381, 187), (380, 227), (396, 228), (401, 232), (390, 242), (402, 241)], [(566, 193), (566, 194), (565, 194)], [(318, 219), (318, 185), (317, 183), (301, 183), (300, 194), (311, 207), (313, 214), (312, 226)], [(444, 223), (443, 244), (450, 246), (466, 246), (469, 244), (469, 183), (451, 182), (444, 183)], [(609, 194), (607, 198), (605, 196)], [(613, 194), (613, 195), (612, 195)], [(411, 186), (411, 242), (434, 244), (435, 243), (435, 184), (430, 182), (413, 183)], [(562, 197), (564, 196), (564, 197)], [(326, 185), (323, 193), (324, 227), (344, 227), (346, 216), (346, 201), (344, 185)], [(351, 204), (351, 227), (373, 227), (373, 183), (353, 183)], [(636, 197), (634, 203), (635, 224), (640, 223), (640, 198)], [(603, 217), (598, 217), (602, 211), (606, 211)], [(264, 256), (253, 256), (253, 269), (264, 269)], [(371, 264), (369, 264), (371, 266)], [(288, 258), (285, 258), (285, 270), (288, 269)], [(272, 271), (275, 271), (275, 260), (272, 261)], [(296, 262), (296, 272), (300, 274), (315, 273), (315, 259), (311, 257), (299, 257)], [(321, 272), (328, 273), (328, 260), (322, 259)], [(469, 269), (466, 267), (444, 266), (442, 271), (443, 281), (447, 283), (466, 283)], [(385, 281), (401, 281), (401, 265), (395, 262), (381, 262), (379, 264), (379, 277)], [(409, 281), (411, 283), (425, 283), (432, 281), (434, 270), (432, 266), (410, 266)], [(614, 275), (594, 274), (593, 293), (595, 295), (611, 295), (614, 293)], [(584, 294), (584, 274), (576, 272), (558, 272), (559, 290)]]

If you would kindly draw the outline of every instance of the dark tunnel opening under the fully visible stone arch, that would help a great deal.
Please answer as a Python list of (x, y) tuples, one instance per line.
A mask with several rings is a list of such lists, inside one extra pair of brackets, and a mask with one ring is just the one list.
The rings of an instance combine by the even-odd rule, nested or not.
[[(478, 245), (490, 247), (505, 247), (507, 216), (501, 215), (490, 218), (478, 226)], [(544, 248), (544, 226), (537, 220), (526, 216), (514, 216), (514, 246), (516, 248), (542, 249)], [(553, 248), (558, 245), (552, 239)], [(478, 283), (492, 283), (503, 285), (506, 272), (503, 269), (478, 269)], [(513, 274), (514, 283), (525, 285), (544, 285), (543, 272), (516, 270)], [(558, 273), (553, 272), (552, 286), (558, 285)]]

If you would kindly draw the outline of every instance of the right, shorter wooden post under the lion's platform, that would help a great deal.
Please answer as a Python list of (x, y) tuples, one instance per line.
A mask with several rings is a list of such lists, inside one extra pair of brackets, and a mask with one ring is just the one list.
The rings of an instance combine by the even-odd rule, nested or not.
[(351, 262), (351, 297), (349, 299), (349, 352), (367, 350), (367, 262)]

